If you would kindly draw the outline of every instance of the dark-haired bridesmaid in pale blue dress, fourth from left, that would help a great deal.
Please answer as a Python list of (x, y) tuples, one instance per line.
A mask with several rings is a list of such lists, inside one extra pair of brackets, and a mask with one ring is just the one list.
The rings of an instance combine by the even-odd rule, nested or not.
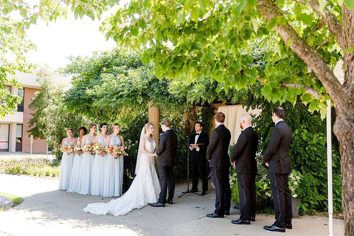
[[(103, 145), (105, 147), (107, 139), (107, 123), (101, 123), (99, 125), (101, 134), (96, 136), (95, 143)], [(107, 164), (107, 152), (103, 151), (95, 155), (95, 161), (93, 162), (92, 180), (91, 180), (91, 195), (102, 196), (104, 185), (104, 171)]]

